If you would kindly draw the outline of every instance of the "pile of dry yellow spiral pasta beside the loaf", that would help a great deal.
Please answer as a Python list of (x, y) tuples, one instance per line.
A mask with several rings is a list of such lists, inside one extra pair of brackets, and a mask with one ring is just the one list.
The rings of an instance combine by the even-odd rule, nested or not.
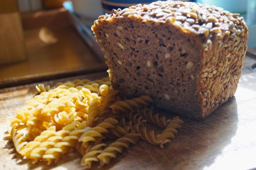
[[(183, 123), (178, 117), (166, 120), (153, 114), (148, 96), (120, 97), (108, 78), (76, 79), (53, 88), (39, 84), (36, 89), (39, 94), (17, 108), (8, 125), (15, 149), (33, 163), (51, 164), (76, 148), (83, 155), (81, 165), (108, 164), (139, 139), (163, 148)], [(148, 124), (163, 131), (155, 134)]]

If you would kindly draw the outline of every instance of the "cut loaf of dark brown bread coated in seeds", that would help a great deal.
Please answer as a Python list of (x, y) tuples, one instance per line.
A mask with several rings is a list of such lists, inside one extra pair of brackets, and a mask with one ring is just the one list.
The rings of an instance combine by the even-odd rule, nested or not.
[(92, 30), (126, 97), (150, 95), (159, 108), (202, 120), (235, 94), (248, 39), (238, 14), (157, 1), (113, 9)]

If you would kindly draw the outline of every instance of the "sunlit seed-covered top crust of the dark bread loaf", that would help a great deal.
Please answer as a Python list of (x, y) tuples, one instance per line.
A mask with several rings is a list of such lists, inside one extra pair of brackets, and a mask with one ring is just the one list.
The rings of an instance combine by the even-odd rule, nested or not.
[(185, 34), (199, 35), (204, 43), (215, 36), (221, 40), (225, 35), (248, 33), (244, 18), (239, 17), (239, 14), (232, 14), (216, 6), (172, 0), (157, 1), (143, 6), (138, 4), (123, 10), (113, 9), (111, 14), (99, 16), (92, 30), (99, 21), (112, 22), (114, 18), (131, 18), (156, 24), (167, 23)]

